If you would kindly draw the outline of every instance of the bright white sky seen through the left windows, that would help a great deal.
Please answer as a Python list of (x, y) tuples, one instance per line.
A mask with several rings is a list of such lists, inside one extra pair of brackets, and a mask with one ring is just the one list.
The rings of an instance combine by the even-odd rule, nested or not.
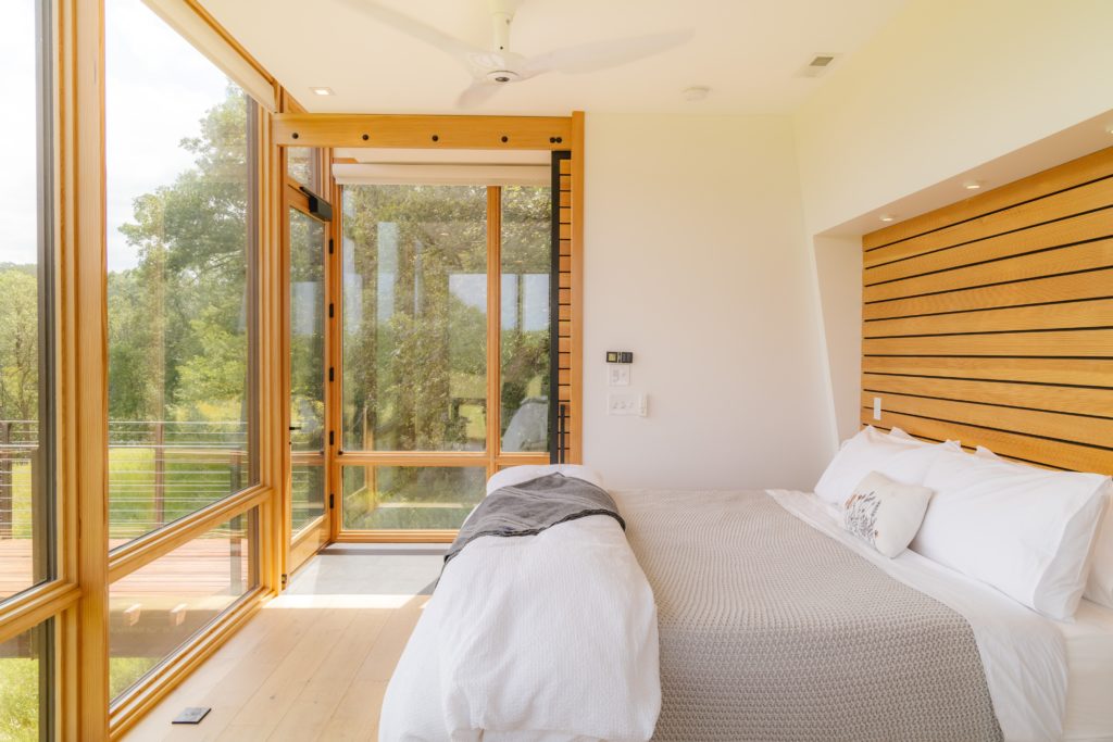
[[(37, 261), (35, 4), (7, 1), (0, 23), (0, 263)], [(193, 164), (179, 142), (198, 133), (228, 80), (141, 0), (107, 0), (105, 17), (108, 269), (119, 270), (138, 263), (119, 231), (134, 199)]]

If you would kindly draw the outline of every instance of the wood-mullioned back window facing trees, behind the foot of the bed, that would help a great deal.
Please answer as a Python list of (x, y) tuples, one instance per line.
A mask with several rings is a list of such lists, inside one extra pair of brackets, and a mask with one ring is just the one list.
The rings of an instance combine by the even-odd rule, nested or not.
[(342, 533), (443, 537), (548, 461), (551, 212), (542, 186), (344, 188)]

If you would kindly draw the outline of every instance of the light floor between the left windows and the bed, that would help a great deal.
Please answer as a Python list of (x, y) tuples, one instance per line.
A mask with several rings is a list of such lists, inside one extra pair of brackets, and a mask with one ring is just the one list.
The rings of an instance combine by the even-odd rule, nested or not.
[[(333, 547), (124, 738), (377, 740), (386, 682), (441, 556)], [(171, 725), (186, 706), (213, 711)]]

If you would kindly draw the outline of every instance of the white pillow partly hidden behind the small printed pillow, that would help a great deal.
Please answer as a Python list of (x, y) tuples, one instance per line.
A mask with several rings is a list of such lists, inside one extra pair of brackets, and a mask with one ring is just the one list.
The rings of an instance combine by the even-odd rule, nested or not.
[(961, 451), (957, 443), (925, 444), (903, 441), (867, 426), (847, 441), (816, 484), (816, 495), (841, 507), (870, 472), (880, 472), (900, 484), (923, 484), (924, 475), (943, 452)]

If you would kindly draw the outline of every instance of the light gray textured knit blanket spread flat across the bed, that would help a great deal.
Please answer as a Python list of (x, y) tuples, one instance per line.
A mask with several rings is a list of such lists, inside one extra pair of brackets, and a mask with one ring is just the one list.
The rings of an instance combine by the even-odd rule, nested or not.
[(657, 598), (654, 740), (1002, 739), (966, 620), (766, 493), (615, 499)]

